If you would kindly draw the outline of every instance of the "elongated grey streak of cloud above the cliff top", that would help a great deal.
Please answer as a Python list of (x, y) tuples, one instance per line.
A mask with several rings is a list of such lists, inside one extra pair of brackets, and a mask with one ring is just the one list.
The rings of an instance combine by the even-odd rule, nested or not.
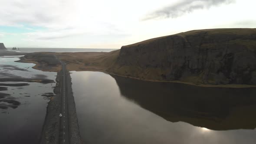
[(185, 13), (191, 13), (198, 9), (208, 9), (220, 4), (230, 4), (235, 0), (181, 0), (169, 7), (156, 10), (146, 15), (142, 20), (151, 20), (157, 18), (177, 18)]

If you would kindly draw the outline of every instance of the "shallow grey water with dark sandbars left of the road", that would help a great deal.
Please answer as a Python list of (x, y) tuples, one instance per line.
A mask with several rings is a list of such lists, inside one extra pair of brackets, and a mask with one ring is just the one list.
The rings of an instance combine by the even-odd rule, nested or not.
[[(19, 58), (0, 57), (0, 78), (43, 77), (56, 79), (56, 72), (42, 72), (32, 69), (33, 63), (14, 62)], [(12, 67), (13, 66), (13, 67)], [(26, 86), (1, 86), (9, 94), (0, 98), (0, 144), (36, 144), (41, 137), (49, 98), (45, 93), (53, 93), (56, 83), (38, 82), (0, 82), (0, 84), (27, 83)], [(13, 107), (2, 100), (20, 102)]]

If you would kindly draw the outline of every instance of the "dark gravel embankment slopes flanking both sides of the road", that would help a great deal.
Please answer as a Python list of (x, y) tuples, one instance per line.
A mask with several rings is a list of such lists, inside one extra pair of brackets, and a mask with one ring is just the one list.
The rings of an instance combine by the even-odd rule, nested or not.
[[(47, 114), (42, 131), (41, 144), (59, 144), (60, 134), (60, 117), (62, 91), (63, 91), (63, 72), (59, 71), (56, 77), (56, 87), (54, 88), (54, 95), (51, 97), (48, 106)], [(81, 144), (79, 124), (75, 111), (75, 101), (72, 92), (72, 82), (69, 72), (66, 72), (66, 92), (68, 98), (68, 112), (69, 112), (69, 140), (70, 144)]]

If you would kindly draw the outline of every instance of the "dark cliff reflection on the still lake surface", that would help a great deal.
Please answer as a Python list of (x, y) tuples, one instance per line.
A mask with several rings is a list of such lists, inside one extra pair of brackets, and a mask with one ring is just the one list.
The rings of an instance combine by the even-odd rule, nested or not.
[(209, 88), (112, 77), (121, 95), (167, 121), (212, 130), (256, 128), (256, 88)]

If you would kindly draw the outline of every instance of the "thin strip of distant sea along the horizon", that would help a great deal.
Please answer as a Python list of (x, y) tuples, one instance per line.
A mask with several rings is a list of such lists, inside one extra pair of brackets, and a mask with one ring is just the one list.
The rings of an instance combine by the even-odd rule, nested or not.
[[(11, 48), (8, 48), (11, 49)], [(16, 52), (111, 52), (116, 49), (20, 48)]]

